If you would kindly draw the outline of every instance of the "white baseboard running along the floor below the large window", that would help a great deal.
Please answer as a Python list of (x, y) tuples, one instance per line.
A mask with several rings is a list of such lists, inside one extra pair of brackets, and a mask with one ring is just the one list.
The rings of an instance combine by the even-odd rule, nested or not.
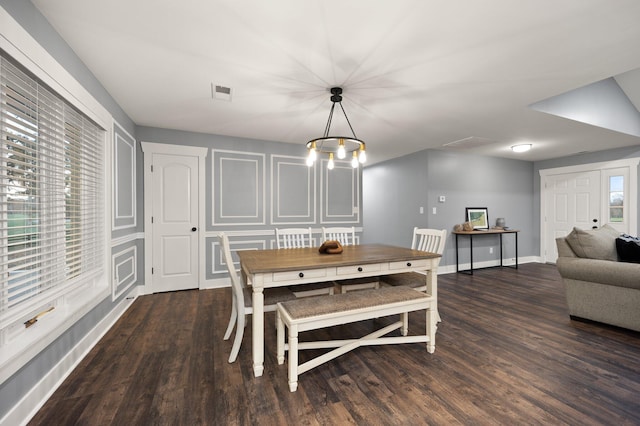
[(73, 369), (87, 356), (89, 351), (109, 331), (115, 322), (131, 306), (141, 286), (133, 287), (107, 316), (87, 333), (67, 354), (49, 370), (27, 394), (0, 419), (0, 426), (26, 425), (38, 410), (53, 395), (56, 389), (71, 374)]

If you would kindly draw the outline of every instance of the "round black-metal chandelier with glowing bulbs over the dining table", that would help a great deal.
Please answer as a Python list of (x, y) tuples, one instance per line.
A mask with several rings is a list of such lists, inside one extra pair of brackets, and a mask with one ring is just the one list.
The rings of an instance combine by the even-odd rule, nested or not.
[[(342, 160), (347, 157), (348, 154), (351, 155), (351, 167), (354, 169), (359, 166), (360, 163), (364, 163), (367, 161), (367, 154), (365, 152), (365, 145), (360, 139), (356, 137), (356, 133), (353, 131), (353, 127), (351, 127), (351, 122), (349, 121), (349, 117), (347, 117), (347, 113), (344, 111), (344, 107), (342, 106), (342, 88), (341, 87), (332, 87), (331, 88), (331, 110), (329, 111), (329, 119), (327, 120), (327, 125), (324, 128), (324, 134), (321, 138), (312, 139), (307, 142), (307, 165), (309, 167), (313, 166), (318, 158), (318, 154), (325, 154), (329, 156), (329, 162), (327, 163), (327, 168), (329, 170), (335, 167), (334, 157)], [(349, 129), (351, 129), (351, 134), (353, 137), (349, 136), (329, 136), (329, 131), (331, 130), (331, 121), (333, 120), (333, 111), (336, 108), (336, 104), (340, 105), (340, 109), (342, 110), (342, 114), (344, 114), (344, 118), (347, 120), (347, 124), (349, 124)]]

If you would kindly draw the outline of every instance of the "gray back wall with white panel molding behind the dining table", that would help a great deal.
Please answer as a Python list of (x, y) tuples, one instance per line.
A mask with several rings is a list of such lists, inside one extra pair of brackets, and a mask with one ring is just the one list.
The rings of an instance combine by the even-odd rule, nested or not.
[(323, 226), (362, 226), (362, 169), (353, 169), (349, 161), (336, 161), (336, 168), (327, 171), (320, 162), (312, 168), (306, 165), (302, 143), (151, 127), (138, 127), (136, 134), (142, 142), (209, 148), (204, 200), (207, 279), (227, 276), (218, 232), (232, 237), (232, 250), (265, 249), (275, 247), (276, 227), (311, 227), (319, 245)]

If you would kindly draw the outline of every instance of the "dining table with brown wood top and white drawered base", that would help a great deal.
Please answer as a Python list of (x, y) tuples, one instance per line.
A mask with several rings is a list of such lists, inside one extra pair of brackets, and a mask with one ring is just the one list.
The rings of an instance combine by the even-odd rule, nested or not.
[[(265, 288), (295, 286), (403, 272), (424, 272), (427, 293), (435, 298), (432, 323), (437, 310), (437, 268), (441, 255), (385, 244), (343, 246), (342, 253), (320, 253), (318, 247), (239, 250), (240, 269), (252, 289), (252, 356), (255, 377), (264, 372)], [(332, 296), (315, 296), (332, 297)]]

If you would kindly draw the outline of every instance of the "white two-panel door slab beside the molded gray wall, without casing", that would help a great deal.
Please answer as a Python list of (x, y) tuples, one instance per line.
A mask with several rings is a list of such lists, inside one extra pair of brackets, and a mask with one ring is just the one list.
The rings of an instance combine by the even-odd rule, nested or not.
[(153, 292), (198, 288), (198, 158), (153, 155)]

